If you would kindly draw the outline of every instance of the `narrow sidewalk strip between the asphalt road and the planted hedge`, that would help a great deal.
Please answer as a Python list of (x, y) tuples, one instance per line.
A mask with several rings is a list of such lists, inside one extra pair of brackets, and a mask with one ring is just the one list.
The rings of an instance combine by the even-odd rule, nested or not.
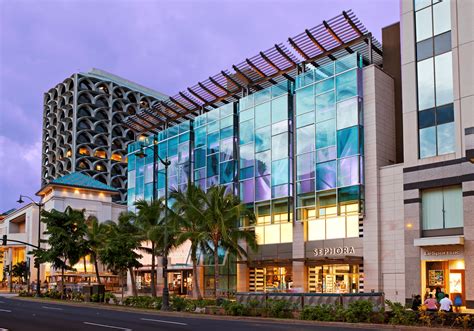
[(341, 328), (353, 328), (353, 329), (371, 329), (371, 330), (417, 330), (417, 331), (433, 331), (445, 330), (445, 328), (433, 328), (433, 327), (422, 327), (422, 326), (404, 326), (404, 325), (388, 325), (388, 324), (370, 324), (370, 323), (343, 323), (343, 322), (320, 322), (320, 321), (305, 321), (298, 319), (280, 319), (270, 317), (248, 317), (248, 316), (228, 316), (228, 315), (208, 315), (191, 312), (175, 312), (175, 311), (160, 311), (143, 308), (132, 308), (125, 306), (116, 306), (113, 304), (97, 304), (92, 302), (69, 302), (60, 301), (53, 299), (43, 298), (31, 298), (31, 297), (12, 297), (15, 300), (24, 300), (31, 302), (41, 302), (49, 304), (58, 304), (70, 307), (82, 307), (82, 308), (95, 308), (103, 310), (112, 310), (128, 313), (139, 313), (154, 316), (168, 316), (168, 317), (182, 317), (182, 318), (199, 318), (199, 319), (213, 319), (213, 320), (240, 320), (250, 322), (266, 322), (275, 324), (287, 324), (287, 325), (314, 325), (319, 327), (341, 327)]

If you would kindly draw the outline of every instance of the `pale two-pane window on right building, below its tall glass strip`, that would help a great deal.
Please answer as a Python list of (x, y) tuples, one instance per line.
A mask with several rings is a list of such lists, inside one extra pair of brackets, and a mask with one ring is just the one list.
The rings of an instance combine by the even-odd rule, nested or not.
[(424, 231), (463, 227), (461, 186), (423, 190), (421, 204)]

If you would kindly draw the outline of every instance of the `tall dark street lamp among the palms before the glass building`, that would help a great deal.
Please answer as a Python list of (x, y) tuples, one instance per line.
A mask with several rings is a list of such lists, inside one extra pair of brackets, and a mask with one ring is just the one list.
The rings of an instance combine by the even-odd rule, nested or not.
[[(151, 148), (150, 146), (141, 146), (140, 150), (135, 153), (139, 158), (146, 156), (145, 149)], [(165, 233), (164, 233), (164, 251), (163, 251), (163, 300), (161, 304), (161, 310), (169, 310), (169, 290), (168, 290), (168, 167), (171, 161), (166, 157), (164, 160), (158, 155), (158, 141), (153, 141), (153, 200), (156, 199), (156, 165), (157, 161), (165, 167)]]

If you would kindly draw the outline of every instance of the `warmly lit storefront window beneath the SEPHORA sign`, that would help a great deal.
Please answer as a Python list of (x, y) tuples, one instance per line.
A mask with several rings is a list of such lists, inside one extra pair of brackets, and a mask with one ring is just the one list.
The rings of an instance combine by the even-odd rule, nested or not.
[(308, 290), (311, 293), (357, 293), (359, 266), (351, 264), (310, 266)]

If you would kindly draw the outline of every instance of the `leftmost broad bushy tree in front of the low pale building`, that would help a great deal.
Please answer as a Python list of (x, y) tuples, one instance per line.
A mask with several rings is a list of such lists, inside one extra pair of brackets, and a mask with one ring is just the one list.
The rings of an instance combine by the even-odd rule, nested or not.
[(82, 257), (81, 244), (86, 232), (84, 212), (71, 207), (67, 207), (64, 212), (55, 209), (41, 211), (49, 248), (35, 250), (33, 254), (41, 262), (50, 262), (53, 268), (61, 270), (61, 299), (64, 295), (64, 271), (72, 270)]

